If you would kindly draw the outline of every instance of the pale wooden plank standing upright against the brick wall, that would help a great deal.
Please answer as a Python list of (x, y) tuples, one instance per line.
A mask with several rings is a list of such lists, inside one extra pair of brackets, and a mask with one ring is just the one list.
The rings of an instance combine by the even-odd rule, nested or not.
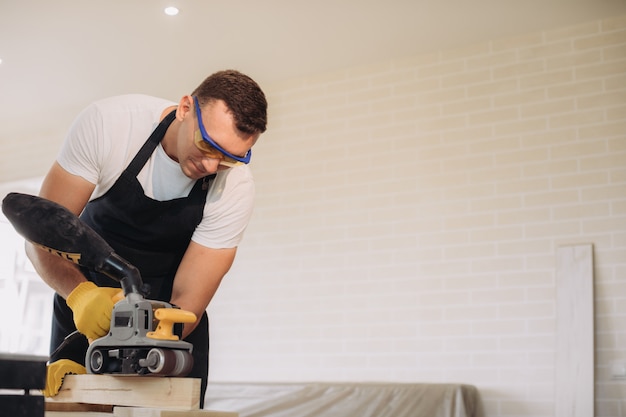
[(557, 249), (556, 295), (556, 416), (593, 416), (592, 245)]

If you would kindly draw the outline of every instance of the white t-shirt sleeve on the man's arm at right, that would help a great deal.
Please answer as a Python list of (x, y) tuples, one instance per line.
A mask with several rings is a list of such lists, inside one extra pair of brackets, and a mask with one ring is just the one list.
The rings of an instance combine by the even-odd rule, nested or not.
[(247, 166), (231, 168), (218, 174), (204, 207), (202, 221), (192, 241), (213, 249), (239, 245), (252, 216), (254, 179)]

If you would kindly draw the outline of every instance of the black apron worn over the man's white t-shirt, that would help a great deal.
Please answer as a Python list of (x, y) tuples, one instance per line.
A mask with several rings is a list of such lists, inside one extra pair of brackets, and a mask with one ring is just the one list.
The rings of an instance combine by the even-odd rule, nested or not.
[[(196, 181), (187, 197), (157, 201), (144, 194), (137, 175), (163, 139), (175, 115), (176, 112), (172, 111), (163, 119), (113, 187), (90, 201), (80, 216), (118, 255), (139, 269), (144, 283), (150, 286), (147, 298), (166, 302), (171, 299), (174, 276), (191, 235), (202, 220), (209, 181), (215, 177)], [(120, 287), (118, 282), (103, 274), (86, 270), (83, 273), (98, 286)], [(72, 311), (65, 300), (55, 294), (50, 351), (53, 352), (75, 330)], [(194, 367), (188, 376), (202, 379), (202, 407), (209, 368), (206, 312), (185, 340), (194, 345)], [(50, 360), (71, 359), (84, 365), (87, 347), (86, 338), (76, 338)]]

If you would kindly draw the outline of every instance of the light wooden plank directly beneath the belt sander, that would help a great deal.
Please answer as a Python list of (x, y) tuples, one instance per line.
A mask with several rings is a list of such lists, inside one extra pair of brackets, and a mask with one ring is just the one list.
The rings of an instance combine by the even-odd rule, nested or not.
[(59, 393), (46, 401), (197, 410), (200, 379), (66, 375)]

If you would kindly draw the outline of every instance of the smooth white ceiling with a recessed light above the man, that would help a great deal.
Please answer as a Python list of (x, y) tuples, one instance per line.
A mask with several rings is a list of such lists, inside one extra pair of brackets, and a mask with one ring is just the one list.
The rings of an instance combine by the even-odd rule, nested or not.
[(263, 87), (618, 14), (626, 0), (0, 0), (0, 141), (63, 135), (100, 97), (178, 100), (219, 69)]

